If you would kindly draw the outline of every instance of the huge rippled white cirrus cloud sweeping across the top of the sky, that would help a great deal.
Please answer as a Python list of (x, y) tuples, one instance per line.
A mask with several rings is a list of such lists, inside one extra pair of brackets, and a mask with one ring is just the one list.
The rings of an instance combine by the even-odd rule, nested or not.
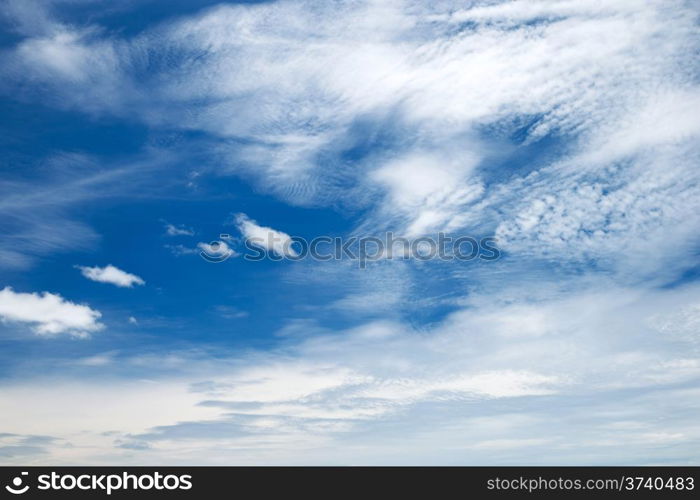
[[(698, 95), (694, 14), (683, 1), (222, 5), (128, 39), (58, 24), (5, 57), (10, 75), (29, 71), (80, 109), (128, 108), (152, 126), (218, 138), (219, 173), (258, 179), (286, 201), (334, 204), (342, 196), (369, 204), (363, 230), (476, 225), (516, 252), (530, 211), (523, 191), (562, 206), (612, 191), (595, 202), (599, 217), (580, 229), (589, 248), (602, 248), (623, 244), (615, 238), (622, 232), (595, 221), (614, 220), (652, 192), (675, 208), (639, 210), (637, 230), (649, 224), (664, 233), (680, 224), (687, 242), (697, 227), (695, 207), (674, 204), (684, 184), (685, 195), (697, 198), (696, 183), (686, 182), (695, 175), (697, 151), (688, 147), (700, 127), (688, 112)], [(163, 64), (163, 53), (176, 62)], [(86, 82), (88, 92), (75, 92)], [(517, 159), (548, 136), (561, 140), (566, 161), (501, 171), (503, 144)], [(380, 151), (347, 159), (357, 144), (379, 140)], [(638, 179), (644, 165), (668, 161), (675, 167), (663, 185)], [(560, 217), (562, 227), (579, 224), (574, 212)]]

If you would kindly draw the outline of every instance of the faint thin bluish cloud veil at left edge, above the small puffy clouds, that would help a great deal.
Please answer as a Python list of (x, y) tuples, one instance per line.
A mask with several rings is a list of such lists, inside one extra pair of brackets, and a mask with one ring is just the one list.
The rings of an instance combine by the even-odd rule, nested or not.
[[(94, 249), (100, 235), (81, 221), (85, 210), (122, 196), (126, 179), (130, 196), (163, 189), (162, 180), (152, 174), (164, 158), (132, 157), (127, 166), (104, 160), (104, 166), (89, 155), (58, 152), (26, 167), (36, 174), (31, 182), (0, 179), (0, 267), (27, 269), (46, 255)], [(172, 169), (172, 162), (168, 166)], [(47, 170), (50, 175), (42, 175)]]

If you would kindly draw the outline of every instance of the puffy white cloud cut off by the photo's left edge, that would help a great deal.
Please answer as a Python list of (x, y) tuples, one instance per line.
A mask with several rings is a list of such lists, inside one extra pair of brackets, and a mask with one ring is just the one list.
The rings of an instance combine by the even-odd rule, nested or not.
[(58, 294), (18, 293), (10, 287), (0, 291), (0, 319), (29, 323), (39, 335), (67, 333), (87, 337), (104, 326), (98, 322), (101, 316), (99, 311)]

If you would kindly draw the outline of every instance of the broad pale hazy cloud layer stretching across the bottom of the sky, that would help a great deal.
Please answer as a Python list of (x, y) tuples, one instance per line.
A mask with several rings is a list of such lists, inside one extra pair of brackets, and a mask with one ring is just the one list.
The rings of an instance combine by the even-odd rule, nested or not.
[[(369, 322), (245, 356), (115, 352), (109, 366), (123, 374), (99, 382), (97, 354), (79, 365), (93, 372), (51, 394), (38, 375), (0, 386), (0, 426), (73, 443), (48, 447), (52, 463), (298, 464), (299, 450), (326, 464), (424, 463), (426, 453), (481, 465), (696, 455), (700, 351), (688, 328), (697, 286), (509, 294), (474, 296), (428, 329)], [(129, 379), (136, 370), (149, 382)], [(124, 455), (124, 443), (144, 451)]]

